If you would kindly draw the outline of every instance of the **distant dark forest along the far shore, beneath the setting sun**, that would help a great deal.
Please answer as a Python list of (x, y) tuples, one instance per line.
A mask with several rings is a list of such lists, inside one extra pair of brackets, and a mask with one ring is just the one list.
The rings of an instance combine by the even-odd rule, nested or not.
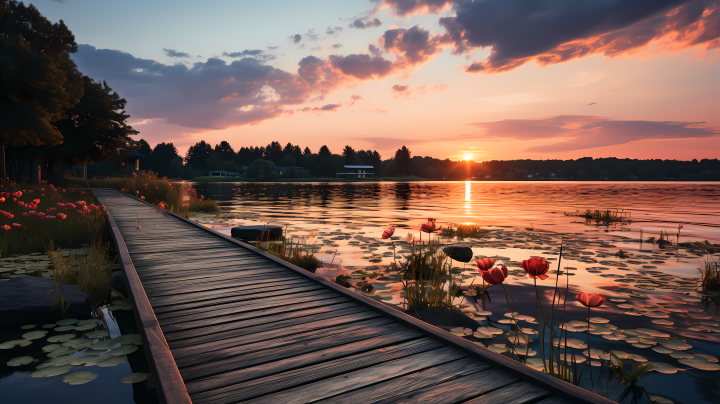
[(718, 181), (720, 161), (713, 160), (633, 160), (584, 157), (577, 160), (492, 160), (452, 161), (412, 156), (403, 146), (389, 159), (375, 150), (355, 150), (345, 146), (339, 154), (327, 146), (313, 152), (309, 147), (271, 142), (265, 147), (241, 147), (237, 151), (223, 141), (214, 147), (205, 141), (192, 145), (181, 156), (172, 143), (154, 148), (144, 140), (138, 150), (148, 156), (141, 168), (169, 177), (192, 178), (222, 170), (247, 173), (250, 178), (274, 179), (276, 167), (293, 167), (288, 178), (327, 178), (343, 172), (345, 164), (375, 167), (376, 177), (415, 176), (439, 180), (564, 180), (564, 181)]

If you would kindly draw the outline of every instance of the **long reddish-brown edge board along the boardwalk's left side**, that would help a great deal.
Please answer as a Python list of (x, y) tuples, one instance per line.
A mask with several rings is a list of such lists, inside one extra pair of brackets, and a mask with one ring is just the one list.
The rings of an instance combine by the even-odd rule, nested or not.
[(132, 260), (122, 235), (118, 230), (109, 211), (105, 217), (110, 227), (110, 234), (117, 247), (118, 259), (125, 277), (125, 284), (130, 291), (129, 297), (133, 302), (133, 312), (138, 323), (138, 329), (143, 337), (146, 357), (152, 370), (152, 377), (162, 403), (191, 403), (185, 383), (175, 365), (175, 359), (167, 346), (167, 342), (152, 311), (150, 302), (145, 295), (142, 283), (135, 273)]

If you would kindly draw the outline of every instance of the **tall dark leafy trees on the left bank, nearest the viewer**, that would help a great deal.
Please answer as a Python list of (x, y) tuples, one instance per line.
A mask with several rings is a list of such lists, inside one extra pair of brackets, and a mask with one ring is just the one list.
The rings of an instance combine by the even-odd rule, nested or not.
[(0, 0), (0, 178), (37, 182), (56, 163), (120, 161), (135, 146), (126, 100), (78, 70), (77, 50), (62, 20)]

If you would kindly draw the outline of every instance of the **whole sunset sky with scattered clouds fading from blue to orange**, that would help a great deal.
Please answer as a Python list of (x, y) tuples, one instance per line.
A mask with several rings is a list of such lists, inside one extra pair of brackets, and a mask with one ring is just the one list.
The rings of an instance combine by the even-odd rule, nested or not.
[(30, 3), (181, 154), (719, 157), (720, 0)]

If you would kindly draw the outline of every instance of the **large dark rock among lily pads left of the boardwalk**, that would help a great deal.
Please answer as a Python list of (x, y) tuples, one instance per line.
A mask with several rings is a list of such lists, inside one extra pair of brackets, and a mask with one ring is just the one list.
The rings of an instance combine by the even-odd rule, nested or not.
[[(65, 317), (87, 316), (92, 310), (90, 295), (78, 290), (77, 285), (63, 285), (65, 300), (70, 308)], [(55, 296), (52, 279), (18, 276), (0, 282), (0, 323), (42, 324), (50, 319), (50, 308)], [(59, 316), (56, 308), (55, 317)]]

